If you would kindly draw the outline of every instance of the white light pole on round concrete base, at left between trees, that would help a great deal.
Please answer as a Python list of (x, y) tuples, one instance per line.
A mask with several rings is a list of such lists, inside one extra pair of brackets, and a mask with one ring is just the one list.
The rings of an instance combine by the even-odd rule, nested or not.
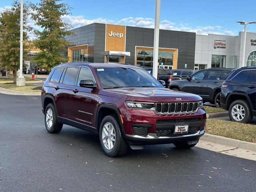
[(17, 86), (25, 86), (26, 78), (22, 75), (22, 63), (23, 63), (23, 0), (20, 0), (20, 74), (17, 78)]

